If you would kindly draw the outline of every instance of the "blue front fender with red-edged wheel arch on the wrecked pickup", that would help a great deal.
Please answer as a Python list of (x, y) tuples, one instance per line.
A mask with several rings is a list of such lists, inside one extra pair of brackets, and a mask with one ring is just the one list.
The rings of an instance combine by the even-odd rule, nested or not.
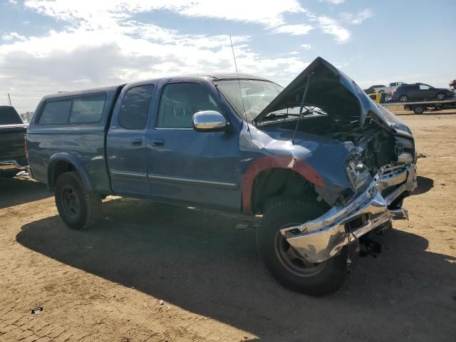
[[(263, 170), (284, 168), (298, 172), (316, 187), (341, 194), (350, 188), (344, 165), (355, 148), (352, 142), (299, 132), (291, 142), (292, 130), (244, 126), (239, 145), (243, 181), (243, 207), (250, 212), (254, 178)], [(252, 138), (251, 136), (252, 135)]]

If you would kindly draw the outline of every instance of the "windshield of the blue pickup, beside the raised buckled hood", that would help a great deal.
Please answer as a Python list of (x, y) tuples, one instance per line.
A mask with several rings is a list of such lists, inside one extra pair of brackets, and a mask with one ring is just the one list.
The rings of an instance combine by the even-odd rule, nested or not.
[[(239, 92), (239, 83), (241, 91)], [(232, 104), (237, 113), (244, 118), (244, 108), (242, 108), (242, 99), (244, 100), (245, 115), (250, 122), (257, 117), (261, 110), (266, 108), (274, 98), (284, 89), (276, 83), (259, 80), (225, 80), (217, 81), (217, 86), (222, 94)]]

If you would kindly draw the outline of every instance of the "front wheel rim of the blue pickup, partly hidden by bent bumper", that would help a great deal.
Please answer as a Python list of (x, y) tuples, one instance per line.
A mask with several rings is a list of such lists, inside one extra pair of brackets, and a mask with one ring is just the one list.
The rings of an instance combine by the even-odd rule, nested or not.
[[(281, 227), (281, 229), (294, 227), (298, 224), (286, 224), (286, 226)], [(291, 273), (296, 274), (296, 276), (302, 277), (311, 277), (316, 276), (326, 266), (326, 261), (320, 263), (311, 263), (307, 261), (304, 257), (301, 256), (296, 249), (291, 247), (286, 239), (280, 234), (279, 232), (276, 234), (275, 238), (275, 249), (276, 249), (276, 256), (281, 262), (281, 264)]]

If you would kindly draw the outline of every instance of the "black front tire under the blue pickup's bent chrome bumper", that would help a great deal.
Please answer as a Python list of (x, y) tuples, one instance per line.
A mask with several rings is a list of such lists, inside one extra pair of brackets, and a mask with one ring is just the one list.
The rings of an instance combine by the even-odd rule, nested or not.
[[(279, 252), (281, 249), (279, 245), (288, 244), (286, 239), (281, 237), (279, 232), (281, 228), (314, 219), (327, 210), (327, 207), (316, 202), (315, 199), (289, 200), (274, 204), (264, 213), (257, 231), (259, 254), (266, 269), (286, 288), (311, 296), (321, 296), (336, 291), (346, 280), (348, 274), (346, 248), (336, 257), (320, 264), (310, 264), (309, 261), (298, 260), (299, 258), (291, 260), (292, 264), (289, 264), (289, 261), (286, 261)], [(292, 249), (289, 244), (288, 246)], [(294, 249), (291, 252), (297, 254)], [(294, 265), (295, 261), (299, 262)], [(299, 263), (302, 264), (301, 269), (299, 269)]]

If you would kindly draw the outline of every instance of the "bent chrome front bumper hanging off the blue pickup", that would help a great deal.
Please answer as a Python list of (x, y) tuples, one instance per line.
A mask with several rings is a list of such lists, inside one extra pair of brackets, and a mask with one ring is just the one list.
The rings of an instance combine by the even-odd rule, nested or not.
[[(391, 219), (408, 219), (407, 209), (388, 209), (388, 206), (403, 192), (415, 189), (416, 185), (414, 164), (382, 167), (367, 189), (349, 204), (333, 207), (317, 219), (280, 232), (309, 262), (325, 261), (354, 239)], [(395, 189), (383, 197), (381, 192), (389, 187)], [(351, 227), (349, 236), (347, 224), (355, 219), (362, 223)]]

